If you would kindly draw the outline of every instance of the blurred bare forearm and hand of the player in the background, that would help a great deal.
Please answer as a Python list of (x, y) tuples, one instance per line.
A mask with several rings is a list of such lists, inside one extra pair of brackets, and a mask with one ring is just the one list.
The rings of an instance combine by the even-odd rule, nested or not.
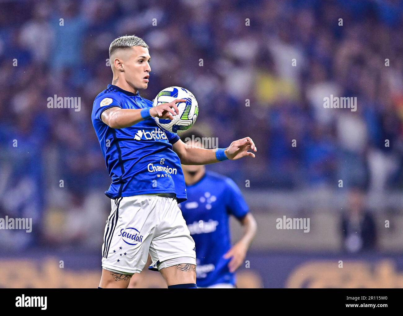
[(228, 264), (230, 272), (235, 272), (239, 266), (243, 263), (249, 246), (255, 238), (258, 225), (251, 213), (247, 213), (244, 218), (239, 220), (244, 227), (244, 233), (242, 238), (224, 255), (225, 259), (232, 257)]

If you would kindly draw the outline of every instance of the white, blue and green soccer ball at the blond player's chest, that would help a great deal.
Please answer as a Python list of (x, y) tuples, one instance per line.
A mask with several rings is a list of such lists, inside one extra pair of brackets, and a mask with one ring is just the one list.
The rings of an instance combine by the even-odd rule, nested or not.
[(195, 96), (185, 88), (169, 87), (157, 94), (154, 99), (153, 106), (156, 107), (162, 103), (169, 103), (176, 99), (185, 99), (186, 102), (177, 103), (179, 114), (174, 115), (172, 121), (170, 119), (160, 119), (154, 117), (158, 126), (164, 128), (168, 132), (181, 133), (189, 130), (195, 123), (199, 114), (199, 106)]

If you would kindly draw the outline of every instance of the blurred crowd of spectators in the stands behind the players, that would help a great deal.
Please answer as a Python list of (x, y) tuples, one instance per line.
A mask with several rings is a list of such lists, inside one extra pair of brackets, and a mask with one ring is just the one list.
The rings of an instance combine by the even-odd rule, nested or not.
[[(257, 144), (253, 161), (210, 170), (249, 179), (249, 190), (336, 190), (339, 179), (401, 190), (402, 13), (397, 0), (2, 3), (0, 217), (33, 218), (39, 236), (0, 244), (99, 246), (90, 236), (102, 234), (110, 178), (90, 117), (112, 79), (109, 44), (125, 34), (150, 46), (141, 95), (186, 87), (199, 102), (195, 128), (219, 147)], [(48, 109), (55, 94), (80, 97), (81, 111)], [(357, 111), (324, 109), (330, 94), (356, 96)]]

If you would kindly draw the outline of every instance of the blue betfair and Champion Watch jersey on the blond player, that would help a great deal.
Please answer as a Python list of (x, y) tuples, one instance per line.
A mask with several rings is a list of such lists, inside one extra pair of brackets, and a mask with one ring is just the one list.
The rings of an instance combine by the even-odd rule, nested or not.
[(185, 179), (172, 144), (179, 136), (160, 128), (153, 118), (121, 129), (110, 128), (101, 114), (110, 107), (144, 109), (152, 101), (117, 86), (108, 85), (94, 100), (92, 124), (101, 145), (112, 184), (105, 194), (111, 199), (150, 193), (174, 193), (186, 200)]

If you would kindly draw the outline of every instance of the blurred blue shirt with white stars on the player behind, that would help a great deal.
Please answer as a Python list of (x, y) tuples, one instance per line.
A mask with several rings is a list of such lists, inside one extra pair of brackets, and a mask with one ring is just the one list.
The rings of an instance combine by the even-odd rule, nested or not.
[(229, 216), (242, 219), (248, 212), (241, 191), (233, 180), (214, 172), (186, 188), (187, 201), (180, 207), (196, 244), (197, 286), (235, 284), (230, 259), (222, 256), (231, 249)]

